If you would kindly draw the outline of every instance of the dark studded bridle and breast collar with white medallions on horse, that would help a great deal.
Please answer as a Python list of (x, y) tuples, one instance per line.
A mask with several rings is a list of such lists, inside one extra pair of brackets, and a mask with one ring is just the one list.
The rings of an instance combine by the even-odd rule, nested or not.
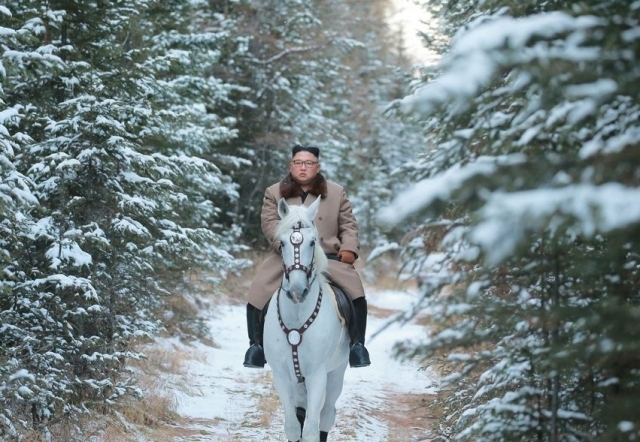
[[(302, 223), (298, 222), (293, 227), (293, 232), (291, 233), (291, 236), (289, 237), (289, 241), (291, 242), (291, 245), (293, 245), (293, 257), (294, 257), (293, 258), (293, 264), (290, 265), (289, 267), (287, 267), (284, 264), (284, 261), (283, 261), (282, 265), (284, 267), (284, 276), (285, 276), (285, 278), (287, 278), (287, 280), (289, 279), (289, 273), (292, 270), (302, 270), (302, 271), (304, 271), (307, 274), (307, 280), (308, 280), (307, 289), (309, 289), (309, 287), (311, 286), (311, 284), (315, 280), (315, 275), (313, 275), (313, 265), (315, 263), (315, 259), (312, 258), (311, 264), (309, 265), (309, 267), (307, 267), (304, 264), (300, 263), (300, 244), (302, 244), (304, 242), (304, 236), (300, 232), (301, 228), (302, 228)], [(313, 279), (311, 278), (312, 275), (313, 275)], [(291, 328), (287, 327), (284, 324), (284, 321), (282, 320), (282, 316), (280, 314), (280, 292), (282, 291), (282, 284), (280, 284), (280, 288), (278, 289), (278, 295), (276, 297), (276, 305), (277, 305), (277, 311), (278, 311), (278, 322), (280, 323), (280, 328), (282, 329), (284, 334), (287, 336), (287, 342), (291, 346), (291, 357), (293, 359), (293, 370), (295, 371), (296, 378), (298, 379), (298, 383), (303, 383), (304, 382), (304, 376), (302, 376), (302, 371), (300, 370), (300, 359), (298, 357), (298, 346), (302, 342), (302, 334), (309, 328), (309, 326), (313, 323), (313, 321), (315, 321), (316, 317), (318, 316), (318, 313), (320, 312), (320, 304), (322, 303), (322, 287), (319, 290), (320, 290), (320, 292), (318, 293), (318, 301), (316, 302), (316, 306), (313, 309), (313, 312), (311, 313), (311, 316), (309, 316), (309, 318), (305, 321), (304, 324), (302, 324), (302, 326), (300, 328), (291, 329)]]

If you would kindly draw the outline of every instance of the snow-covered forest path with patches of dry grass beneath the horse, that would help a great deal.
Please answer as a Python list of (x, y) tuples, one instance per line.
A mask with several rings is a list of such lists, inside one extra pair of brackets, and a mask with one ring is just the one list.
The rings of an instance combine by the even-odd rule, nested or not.
[[(373, 307), (386, 311), (406, 308), (415, 300), (408, 291), (369, 290), (370, 305), (367, 348), (372, 365), (349, 368), (344, 390), (338, 400), (338, 417), (329, 434), (331, 441), (410, 442), (422, 440), (426, 423), (412, 422), (413, 433), (403, 425), (390, 422), (388, 416), (399, 410), (400, 398), (433, 393), (437, 374), (420, 370), (417, 363), (392, 358), (393, 345), (399, 340), (420, 337), (424, 326), (393, 324), (378, 318)], [(381, 310), (378, 310), (381, 311)], [(194, 354), (186, 362), (184, 388), (177, 393), (177, 411), (195, 435), (176, 441), (286, 441), (283, 418), (269, 366), (264, 370), (242, 366), (247, 349), (244, 305), (216, 304), (207, 309), (208, 326), (215, 346), (202, 343), (182, 344), (166, 339), (163, 346)], [(374, 336), (375, 335), (375, 336)], [(174, 393), (175, 394), (175, 393)]]

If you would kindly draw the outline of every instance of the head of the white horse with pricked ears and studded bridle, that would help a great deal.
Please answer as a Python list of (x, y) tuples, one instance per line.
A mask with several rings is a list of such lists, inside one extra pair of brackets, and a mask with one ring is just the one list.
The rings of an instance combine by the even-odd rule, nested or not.
[(318, 231), (313, 219), (319, 205), (320, 198), (309, 207), (289, 206), (284, 199), (278, 202), (281, 220), (276, 237), (280, 240), (284, 265), (282, 290), (295, 303), (306, 299), (313, 282), (319, 282), (327, 269), (327, 257), (322, 247), (316, 247)]

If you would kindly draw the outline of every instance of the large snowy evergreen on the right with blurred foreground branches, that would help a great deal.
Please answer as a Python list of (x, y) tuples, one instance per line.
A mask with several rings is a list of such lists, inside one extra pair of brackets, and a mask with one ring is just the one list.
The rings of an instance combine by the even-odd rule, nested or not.
[(638, 3), (437, 5), (458, 32), (402, 103), (432, 150), (383, 217), (441, 230), (441, 328), (402, 351), (457, 365), (461, 440), (636, 440)]

